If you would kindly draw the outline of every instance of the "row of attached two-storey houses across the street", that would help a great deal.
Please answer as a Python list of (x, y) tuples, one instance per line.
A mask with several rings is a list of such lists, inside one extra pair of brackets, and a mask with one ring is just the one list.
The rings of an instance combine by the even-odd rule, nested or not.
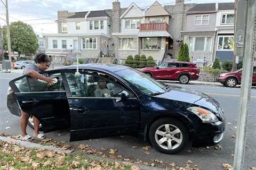
[(123, 61), (135, 54), (153, 56), (157, 62), (177, 60), (182, 41), (189, 45), (191, 61), (212, 63), (215, 56), (231, 60), (234, 3), (176, 0), (173, 5), (156, 1), (147, 8), (135, 3), (122, 8), (114, 0), (107, 10), (58, 11), (58, 33), (44, 37), (46, 54), (54, 63), (74, 60), (76, 55), (87, 63)]

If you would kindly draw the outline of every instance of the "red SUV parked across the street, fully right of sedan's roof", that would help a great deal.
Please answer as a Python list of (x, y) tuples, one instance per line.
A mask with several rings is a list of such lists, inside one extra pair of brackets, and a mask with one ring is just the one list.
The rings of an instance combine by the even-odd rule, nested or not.
[(188, 62), (163, 62), (155, 67), (146, 67), (141, 71), (154, 79), (179, 80), (187, 84), (190, 80), (199, 78), (200, 69), (194, 63)]

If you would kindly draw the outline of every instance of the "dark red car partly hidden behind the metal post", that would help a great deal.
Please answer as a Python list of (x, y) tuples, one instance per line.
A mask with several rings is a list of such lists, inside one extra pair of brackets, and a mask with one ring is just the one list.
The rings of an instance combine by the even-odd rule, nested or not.
[[(218, 75), (218, 81), (227, 87), (235, 87), (236, 84), (241, 84), (242, 70), (235, 72), (222, 73)], [(252, 83), (256, 84), (256, 66), (253, 67)]]

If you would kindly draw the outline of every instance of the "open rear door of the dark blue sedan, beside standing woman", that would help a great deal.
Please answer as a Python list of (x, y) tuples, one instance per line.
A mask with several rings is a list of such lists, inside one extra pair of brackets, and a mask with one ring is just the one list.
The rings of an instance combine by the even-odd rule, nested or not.
[(17, 97), (20, 109), (37, 117), (44, 132), (69, 128), (69, 106), (62, 83), (62, 73), (55, 71), (45, 74), (57, 78), (58, 82), (47, 87), (46, 82), (24, 75), (9, 84)]

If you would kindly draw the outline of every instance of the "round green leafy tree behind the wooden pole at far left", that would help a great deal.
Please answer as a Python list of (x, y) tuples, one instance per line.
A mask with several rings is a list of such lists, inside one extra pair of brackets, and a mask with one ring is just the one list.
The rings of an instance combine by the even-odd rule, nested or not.
[[(21, 53), (36, 53), (39, 47), (38, 39), (30, 25), (21, 21), (12, 22), (10, 24), (10, 36), (11, 50), (13, 52), (18, 52), (19, 57)], [(7, 32), (5, 26), (3, 27), (3, 45), (4, 49), (8, 50)]]

